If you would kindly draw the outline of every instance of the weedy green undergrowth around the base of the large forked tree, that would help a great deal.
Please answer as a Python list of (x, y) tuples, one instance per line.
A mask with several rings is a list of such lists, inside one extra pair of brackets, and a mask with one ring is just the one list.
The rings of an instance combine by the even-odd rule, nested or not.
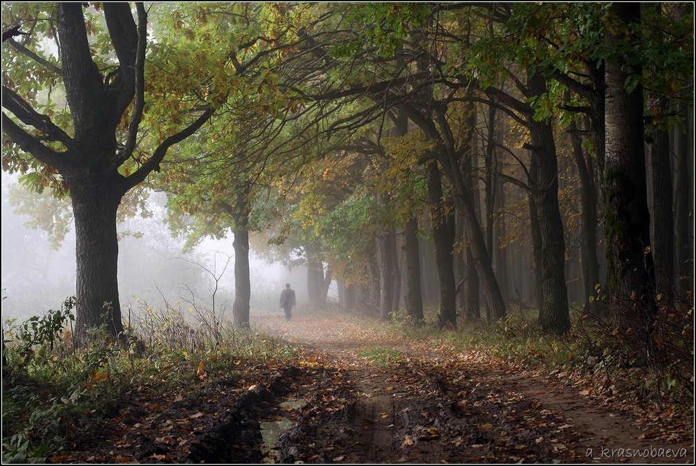
[[(211, 326), (142, 303), (129, 312), (127, 332), (113, 339), (90, 330), (72, 341), (74, 298), (61, 310), (3, 326), (3, 463), (46, 458), (115, 415), (127, 394), (164, 394), (210, 383), (245, 360), (287, 360), (294, 349), (253, 330)], [(118, 410), (116, 410), (118, 411)]]

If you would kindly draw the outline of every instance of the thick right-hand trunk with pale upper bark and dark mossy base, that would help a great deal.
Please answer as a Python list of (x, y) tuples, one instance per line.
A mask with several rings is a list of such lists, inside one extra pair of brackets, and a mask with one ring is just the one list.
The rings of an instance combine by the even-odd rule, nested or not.
[[(626, 31), (640, 21), (638, 3), (612, 3)], [(616, 49), (619, 39), (608, 31), (606, 46)], [(606, 165), (604, 168), (604, 230), (609, 260), (612, 307), (622, 335), (640, 343), (649, 338), (656, 312), (654, 265), (647, 207), (643, 91), (629, 93), (628, 70), (640, 76), (640, 63), (619, 57), (606, 63)], [(641, 346), (642, 347), (642, 346)]]

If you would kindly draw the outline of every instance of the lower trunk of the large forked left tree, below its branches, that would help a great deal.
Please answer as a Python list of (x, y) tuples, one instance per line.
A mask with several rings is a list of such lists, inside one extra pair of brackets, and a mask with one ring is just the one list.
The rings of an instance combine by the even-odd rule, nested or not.
[(111, 335), (123, 331), (118, 300), (116, 210), (122, 193), (116, 177), (63, 174), (72, 200), (77, 256), (75, 334), (83, 342), (88, 328), (102, 324)]

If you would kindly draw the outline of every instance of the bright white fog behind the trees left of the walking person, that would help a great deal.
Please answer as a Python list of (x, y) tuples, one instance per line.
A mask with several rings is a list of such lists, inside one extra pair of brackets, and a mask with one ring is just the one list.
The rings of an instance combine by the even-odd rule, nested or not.
[[(26, 227), (29, 216), (17, 214), (8, 202), (8, 187), (15, 177), (2, 181), (2, 316), (3, 321), (42, 314), (60, 307), (75, 294), (74, 229), (58, 250), (51, 248), (47, 232)], [(192, 303), (208, 307), (216, 279), (216, 310), (232, 314), (235, 293), (233, 235), (204, 240), (184, 253), (184, 239), (173, 238), (166, 225), (162, 193), (151, 193), (150, 218), (131, 218), (118, 225), (118, 283), (122, 314), (147, 306), (188, 310)], [(252, 233), (253, 234), (253, 233)], [(306, 269), (269, 264), (253, 250), (251, 313), (280, 312), (278, 296), (286, 282), (296, 290), (299, 305), (307, 299)], [(226, 266), (227, 264), (227, 266)], [(335, 290), (332, 290), (335, 293)], [(330, 291), (331, 294), (331, 291)]]

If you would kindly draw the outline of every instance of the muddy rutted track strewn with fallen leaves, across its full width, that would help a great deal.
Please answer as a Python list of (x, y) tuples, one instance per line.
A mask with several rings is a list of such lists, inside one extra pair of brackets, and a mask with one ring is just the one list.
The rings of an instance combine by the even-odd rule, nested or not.
[[(397, 337), (349, 316), (255, 316), (289, 362), (132, 394), (61, 463), (693, 463), (693, 424), (564, 373)], [(237, 362), (235, 361), (235, 364)], [(554, 373), (555, 372), (555, 373)], [(278, 435), (280, 438), (278, 439)]]

